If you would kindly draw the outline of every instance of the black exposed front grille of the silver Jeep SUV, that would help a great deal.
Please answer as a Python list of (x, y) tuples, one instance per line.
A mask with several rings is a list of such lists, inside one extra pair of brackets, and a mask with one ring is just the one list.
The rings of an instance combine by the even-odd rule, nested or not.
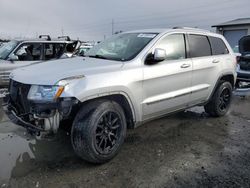
[(10, 80), (10, 102), (15, 107), (18, 115), (30, 112), (30, 102), (28, 101), (29, 90), (30, 85)]

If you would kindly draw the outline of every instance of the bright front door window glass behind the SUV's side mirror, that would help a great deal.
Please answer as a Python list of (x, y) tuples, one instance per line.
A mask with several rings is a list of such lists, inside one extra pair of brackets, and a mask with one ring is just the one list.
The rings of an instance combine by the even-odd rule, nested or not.
[(163, 38), (156, 48), (166, 50), (167, 60), (177, 60), (186, 58), (186, 48), (183, 34), (173, 34)]

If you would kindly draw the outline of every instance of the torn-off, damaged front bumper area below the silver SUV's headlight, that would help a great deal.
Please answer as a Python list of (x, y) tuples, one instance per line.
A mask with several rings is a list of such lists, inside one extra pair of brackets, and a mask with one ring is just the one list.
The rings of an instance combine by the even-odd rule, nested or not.
[(69, 117), (72, 107), (78, 103), (74, 98), (53, 103), (32, 103), (27, 113), (21, 114), (11, 101), (9, 95), (4, 98), (3, 110), (9, 119), (16, 125), (27, 129), (29, 133), (56, 133), (60, 121)]

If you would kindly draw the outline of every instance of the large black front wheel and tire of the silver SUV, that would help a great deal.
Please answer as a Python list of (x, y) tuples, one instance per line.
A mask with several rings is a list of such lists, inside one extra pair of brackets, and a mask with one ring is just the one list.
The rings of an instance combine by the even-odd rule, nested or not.
[(105, 163), (120, 150), (127, 124), (123, 109), (114, 101), (99, 100), (83, 106), (71, 129), (75, 153), (91, 163)]

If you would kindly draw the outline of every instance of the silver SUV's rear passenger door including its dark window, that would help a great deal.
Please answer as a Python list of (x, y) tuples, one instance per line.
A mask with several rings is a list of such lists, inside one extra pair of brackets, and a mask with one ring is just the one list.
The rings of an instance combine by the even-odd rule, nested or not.
[(206, 101), (219, 77), (221, 57), (212, 55), (210, 40), (205, 35), (188, 35), (189, 55), (192, 58), (192, 94), (190, 105)]

